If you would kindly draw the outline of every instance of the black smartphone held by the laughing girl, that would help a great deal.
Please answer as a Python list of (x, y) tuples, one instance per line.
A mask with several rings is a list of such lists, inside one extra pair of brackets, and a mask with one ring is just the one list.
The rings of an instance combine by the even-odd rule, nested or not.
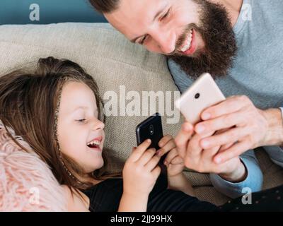
[[(137, 145), (140, 145), (146, 139), (151, 139), (151, 145), (149, 146), (149, 148), (155, 148), (156, 150), (158, 150), (160, 148), (158, 146), (158, 142), (161, 140), (161, 138), (163, 138), (160, 114), (156, 113), (137, 125), (136, 135)], [(163, 155), (160, 162), (158, 163), (163, 174), (166, 174), (167, 172), (166, 165), (163, 164), (165, 158), (166, 155)]]

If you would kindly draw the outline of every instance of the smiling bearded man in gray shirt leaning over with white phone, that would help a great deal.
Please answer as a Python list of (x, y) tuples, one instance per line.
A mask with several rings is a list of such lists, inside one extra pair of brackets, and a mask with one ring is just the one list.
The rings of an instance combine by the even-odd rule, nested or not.
[(166, 55), (181, 92), (201, 73), (214, 76), (228, 98), (205, 109), (200, 123), (183, 124), (179, 153), (227, 196), (259, 191), (253, 149), (263, 146), (283, 166), (283, 1), (90, 2), (131, 42)]

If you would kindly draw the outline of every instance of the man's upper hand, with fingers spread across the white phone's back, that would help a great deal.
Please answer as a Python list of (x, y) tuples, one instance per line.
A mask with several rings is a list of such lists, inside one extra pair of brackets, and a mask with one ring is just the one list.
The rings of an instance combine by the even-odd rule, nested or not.
[(263, 145), (282, 145), (283, 126), (280, 109), (258, 109), (246, 96), (229, 97), (224, 102), (205, 109), (202, 122), (195, 126), (200, 136), (226, 129), (224, 133), (202, 138), (203, 149), (222, 147), (214, 157), (221, 163), (233, 159), (249, 149)]

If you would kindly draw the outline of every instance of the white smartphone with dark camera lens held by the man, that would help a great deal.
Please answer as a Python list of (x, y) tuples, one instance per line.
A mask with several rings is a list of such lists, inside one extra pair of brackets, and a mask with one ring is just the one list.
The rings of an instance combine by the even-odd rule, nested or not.
[(225, 96), (212, 76), (209, 73), (204, 73), (175, 102), (175, 107), (180, 109), (185, 119), (194, 125), (201, 121), (200, 114), (204, 109), (223, 100), (225, 100)]

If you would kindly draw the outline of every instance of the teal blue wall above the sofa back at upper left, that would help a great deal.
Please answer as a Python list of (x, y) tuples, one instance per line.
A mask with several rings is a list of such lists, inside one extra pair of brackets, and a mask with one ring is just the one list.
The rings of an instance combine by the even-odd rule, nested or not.
[[(36, 14), (37, 6), (30, 9), (33, 4), (39, 7), (39, 17)], [(106, 20), (94, 11), (88, 0), (0, 0), (0, 25), (63, 22), (93, 23)]]

